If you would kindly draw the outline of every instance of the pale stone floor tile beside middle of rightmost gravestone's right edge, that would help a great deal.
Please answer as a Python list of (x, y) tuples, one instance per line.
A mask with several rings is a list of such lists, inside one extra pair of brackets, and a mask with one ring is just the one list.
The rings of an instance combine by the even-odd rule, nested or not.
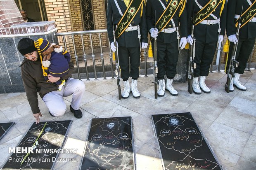
[(240, 155), (245, 144), (249, 140), (250, 134), (225, 126), (218, 122), (213, 124), (204, 133), (210, 144), (215, 144), (222, 149), (226, 149), (234, 154)]

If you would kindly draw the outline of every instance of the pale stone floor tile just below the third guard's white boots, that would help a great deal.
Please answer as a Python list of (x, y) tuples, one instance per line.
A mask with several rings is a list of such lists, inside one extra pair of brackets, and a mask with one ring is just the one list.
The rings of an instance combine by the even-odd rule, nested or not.
[[(209, 95), (211, 95), (211, 93)], [(191, 112), (192, 116), (197, 115), (197, 117), (205, 118), (210, 121), (215, 121), (215, 119), (217, 119), (217, 117), (220, 115), (224, 108), (221, 105), (215, 105), (205, 101), (196, 100), (192, 103), (192, 105), (187, 107), (186, 110)]]

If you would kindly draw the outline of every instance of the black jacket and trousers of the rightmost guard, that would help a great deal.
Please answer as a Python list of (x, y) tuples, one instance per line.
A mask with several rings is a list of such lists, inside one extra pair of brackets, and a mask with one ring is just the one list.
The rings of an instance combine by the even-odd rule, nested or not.
[[(250, 0), (251, 3), (254, 0)], [(227, 36), (234, 35), (237, 28), (235, 27), (235, 15), (241, 15), (249, 8), (247, 0), (228, 0), (228, 16), (227, 16)], [(255, 16), (256, 17), (256, 16)], [(238, 68), (235, 68), (235, 72), (239, 74), (244, 73), (248, 58), (254, 47), (256, 37), (256, 22), (248, 22), (239, 30), (239, 42), (237, 45), (236, 60), (239, 62)], [(226, 65), (226, 71), (228, 71), (230, 58), (232, 57), (232, 49), (234, 43), (230, 42), (228, 61)]]

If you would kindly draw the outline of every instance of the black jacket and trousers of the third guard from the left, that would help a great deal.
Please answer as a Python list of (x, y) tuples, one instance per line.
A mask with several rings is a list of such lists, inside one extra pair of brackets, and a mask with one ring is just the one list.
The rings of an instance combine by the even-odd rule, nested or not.
[[(204, 7), (209, 0), (197, 0), (197, 2)], [(222, 3), (213, 11), (213, 15), (220, 19), (220, 35), (225, 35), (227, 5), (225, 3), (223, 12), (220, 16)], [(187, 0), (187, 19), (188, 19), (188, 35), (191, 35), (192, 18), (200, 11), (199, 6), (195, 0)], [(209, 15), (205, 20), (216, 20)], [(197, 68), (194, 69), (194, 77), (208, 76), (209, 68), (213, 61), (213, 57), (217, 48), (219, 24), (202, 24), (199, 23), (194, 27), (194, 37), (196, 39), (195, 58)]]

